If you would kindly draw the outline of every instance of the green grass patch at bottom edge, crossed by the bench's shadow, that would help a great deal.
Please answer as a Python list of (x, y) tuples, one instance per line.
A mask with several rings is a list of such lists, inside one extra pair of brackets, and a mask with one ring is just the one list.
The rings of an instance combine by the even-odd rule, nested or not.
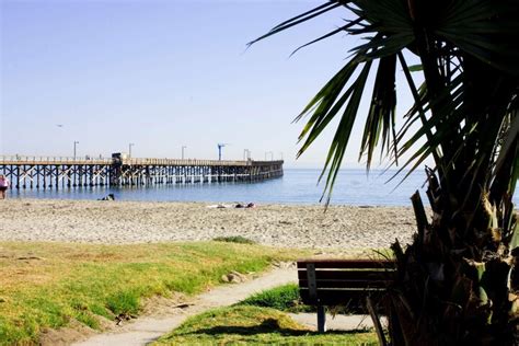
[(162, 336), (158, 345), (378, 345), (372, 332), (318, 334), (296, 323), (284, 312), (234, 305), (193, 316)]

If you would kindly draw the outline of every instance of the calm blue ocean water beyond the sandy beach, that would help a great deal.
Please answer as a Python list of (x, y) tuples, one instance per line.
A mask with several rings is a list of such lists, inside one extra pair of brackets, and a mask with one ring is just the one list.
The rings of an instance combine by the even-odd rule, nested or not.
[[(222, 183), (155, 185), (149, 187), (79, 187), (21, 189), (10, 192), (11, 198), (97, 199), (114, 194), (117, 200), (256, 203), (285, 205), (320, 204), (324, 178), (318, 185), (318, 169), (286, 169), (280, 178), (260, 183)], [(423, 185), (425, 173), (415, 171), (402, 182), (405, 173), (391, 180), (395, 171), (343, 170), (332, 194), (332, 205), (411, 206), (410, 197), (419, 191), (427, 204)], [(391, 181), (390, 181), (391, 180)], [(388, 182), (389, 181), (389, 182)], [(399, 185), (400, 184), (400, 185)], [(399, 186), (397, 186), (399, 185)], [(516, 193), (515, 204), (518, 205)]]

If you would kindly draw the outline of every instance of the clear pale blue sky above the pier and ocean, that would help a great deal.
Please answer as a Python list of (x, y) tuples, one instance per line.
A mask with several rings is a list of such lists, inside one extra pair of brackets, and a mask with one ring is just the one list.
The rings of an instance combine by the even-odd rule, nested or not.
[[(282, 159), (321, 168), (324, 132), (297, 162), (293, 118), (361, 42), (337, 10), (246, 44), (322, 1), (0, 0), (0, 154)], [(368, 93), (370, 94), (370, 93)], [(367, 97), (366, 97), (367, 99)], [(399, 104), (402, 114), (408, 95)], [(367, 113), (367, 103), (362, 105)], [(365, 116), (361, 116), (361, 119)], [(361, 122), (345, 163), (358, 166)], [(59, 126), (58, 126), (59, 125)]]

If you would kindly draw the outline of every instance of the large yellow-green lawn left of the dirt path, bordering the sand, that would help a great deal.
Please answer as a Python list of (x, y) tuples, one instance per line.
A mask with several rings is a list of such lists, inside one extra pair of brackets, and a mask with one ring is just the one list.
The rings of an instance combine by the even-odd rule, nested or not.
[(47, 327), (138, 314), (141, 298), (194, 295), (231, 270), (304, 255), (224, 242), (90, 245), (0, 242), (0, 344), (37, 343)]

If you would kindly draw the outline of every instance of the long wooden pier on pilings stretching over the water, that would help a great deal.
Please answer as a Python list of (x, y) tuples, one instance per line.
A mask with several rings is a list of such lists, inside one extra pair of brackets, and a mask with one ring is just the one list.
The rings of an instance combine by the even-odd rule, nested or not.
[(282, 176), (284, 161), (217, 161), (103, 158), (0, 157), (11, 188), (150, 186), (257, 182)]

